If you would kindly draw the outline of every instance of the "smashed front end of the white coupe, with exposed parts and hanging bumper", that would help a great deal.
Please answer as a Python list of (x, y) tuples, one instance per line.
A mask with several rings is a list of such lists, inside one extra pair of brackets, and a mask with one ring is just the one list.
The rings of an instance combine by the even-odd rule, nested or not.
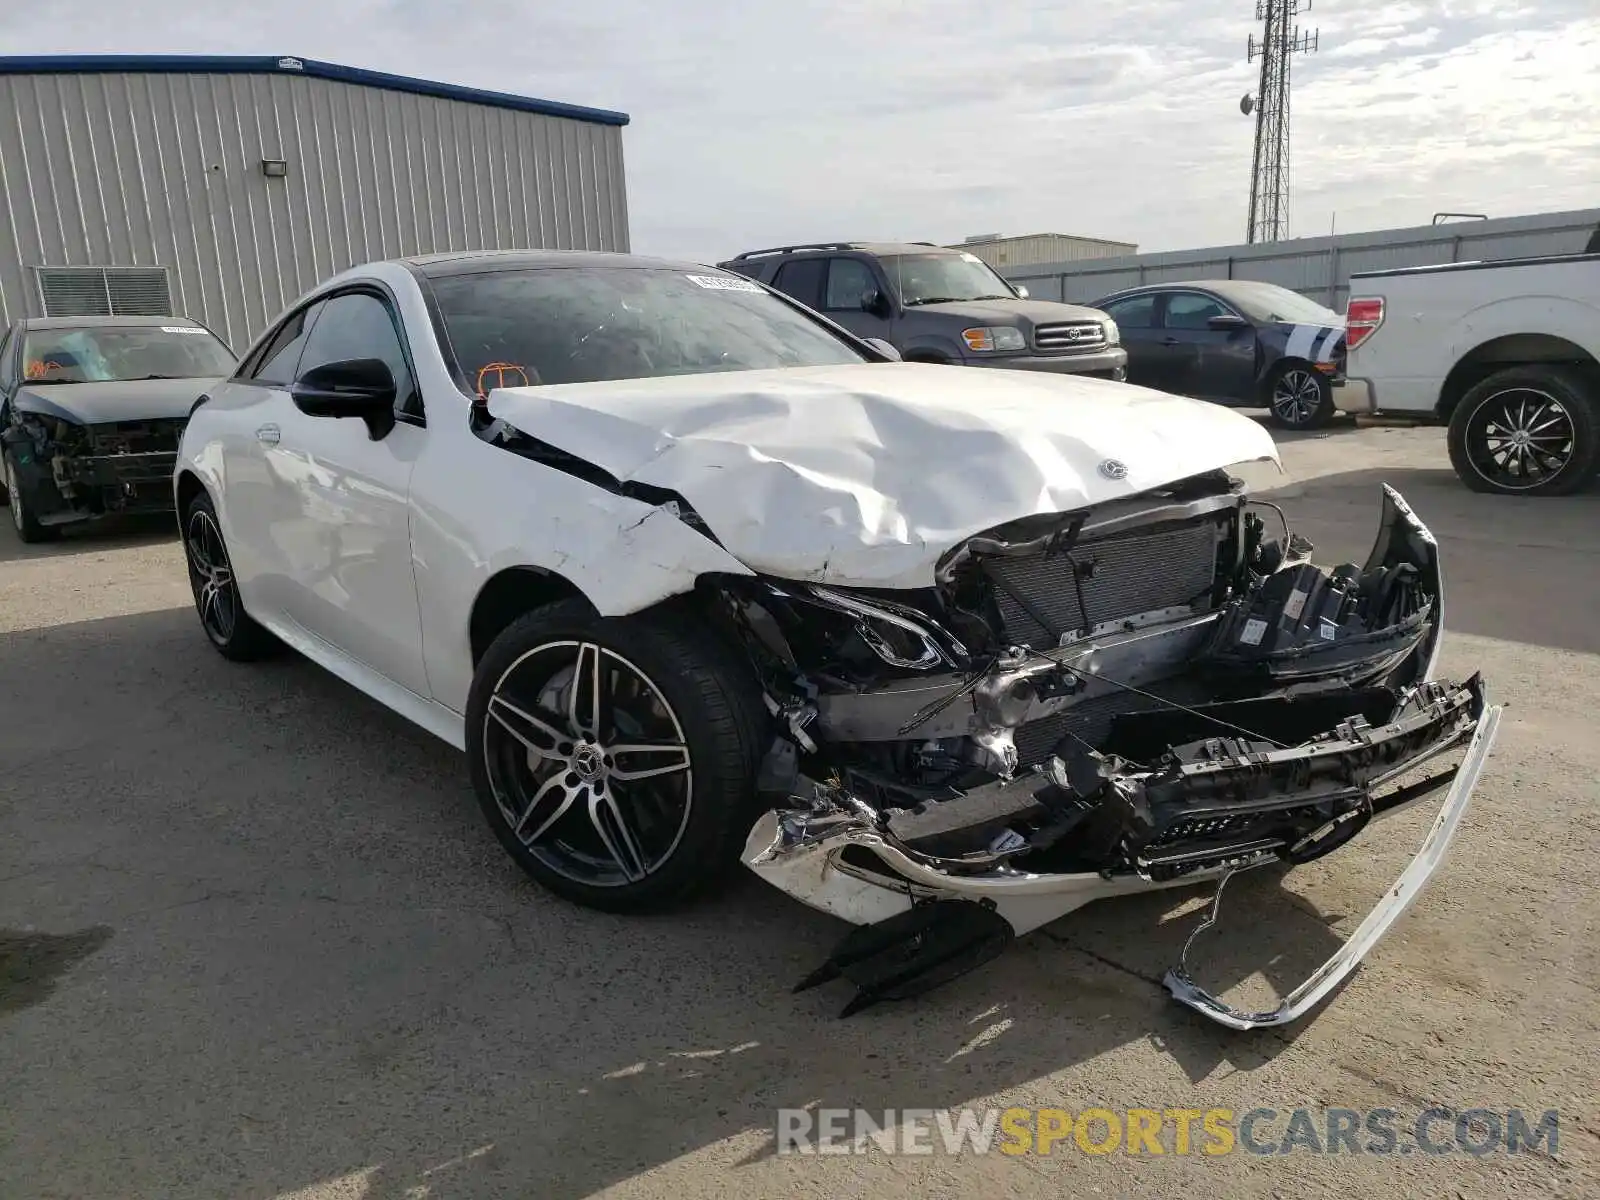
[(1442, 861), (1498, 709), (1434, 678), (1438, 552), (1398, 493), (1333, 570), (1254, 507), (1213, 472), (971, 538), (926, 592), (720, 584), (784, 731), (744, 861), (864, 926), (805, 986), (851, 978), (846, 1011), (912, 995), (1091, 901), (1310, 862), (1448, 789), (1400, 886), (1277, 1010), (1181, 965), (1166, 984), (1253, 1027), (1355, 968)]

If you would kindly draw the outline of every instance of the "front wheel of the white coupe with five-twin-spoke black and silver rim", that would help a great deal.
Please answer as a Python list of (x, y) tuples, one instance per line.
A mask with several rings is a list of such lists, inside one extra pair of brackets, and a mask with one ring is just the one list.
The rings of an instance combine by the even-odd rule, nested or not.
[[(574, 674), (586, 693), (587, 680), (608, 678), (608, 717), (573, 718)], [(533, 706), (549, 720), (531, 723)], [(514, 621), (478, 662), (472, 787), (501, 845), (549, 891), (605, 912), (667, 909), (738, 864), (758, 816), (768, 720), (749, 664), (693, 614), (602, 618), (563, 600)], [(656, 749), (616, 754), (629, 739)]]

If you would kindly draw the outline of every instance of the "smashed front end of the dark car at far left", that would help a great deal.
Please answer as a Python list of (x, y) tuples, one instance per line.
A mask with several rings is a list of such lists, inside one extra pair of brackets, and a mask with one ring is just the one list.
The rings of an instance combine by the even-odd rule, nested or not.
[(184, 426), (184, 418), (80, 424), (19, 406), (0, 437), (26, 512), (48, 528), (170, 512)]

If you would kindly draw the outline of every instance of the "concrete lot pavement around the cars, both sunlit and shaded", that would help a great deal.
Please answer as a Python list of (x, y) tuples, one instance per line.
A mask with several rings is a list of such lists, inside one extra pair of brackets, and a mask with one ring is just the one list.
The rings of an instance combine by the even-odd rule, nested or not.
[[(1158, 986), (1203, 891), (837, 1021), (843, 989), (789, 986), (842, 925), (754, 877), (645, 920), (550, 899), (453, 750), (304, 661), (214, 654), (165, 525), (5, 525), (0, 1195), (1595, 1195), (1600, 496), (1470, 494), (1426, 429), (1285, 458), (1274, 499), (1325, 563), (1365, 557), (1379, 483), (1406, 494), (1445, 552), (1445, 666), (1510, 709), (1427, 894), (1323, 1010), (1253, 1035)], [(1427, 819), (1237, 880), (1203, 979), (1298, 982)], [(1562, 1123), (1554, 1155), (774, 1157), (774, 1109), (816, 1102), (1269, 1107), (1267, 1141), (1298, 1106)]]

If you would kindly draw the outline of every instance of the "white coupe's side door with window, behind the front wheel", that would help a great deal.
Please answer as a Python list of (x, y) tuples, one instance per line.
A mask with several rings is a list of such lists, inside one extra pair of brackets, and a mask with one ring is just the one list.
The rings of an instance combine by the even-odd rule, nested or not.
[(427, 438), (398, 314), (376, 285), (341, 290), (310, 314), (296, 379), (379, 358), (395, 379), (395, 426), (373, 438), (354, 418), (310, 416), (291, 392), (261, 453), (266, 520), (286, 565), (285, 613), (349, 658), (427, 694), (411, 570), (411, 470)]

